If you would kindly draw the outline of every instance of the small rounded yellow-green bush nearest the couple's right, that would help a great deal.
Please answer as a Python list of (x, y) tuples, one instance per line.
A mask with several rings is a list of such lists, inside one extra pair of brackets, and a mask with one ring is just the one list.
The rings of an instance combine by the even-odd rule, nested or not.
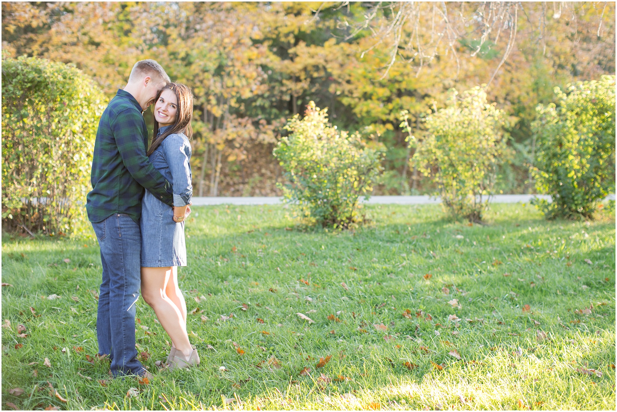
[(381, 171), (381, 151), (366, 147), (357, 134), (328, 124), (328, 109), (315, 102), (305, 117), (295, 115), (273, 154), (286, 171), (289, 184), (281, 186), (288, 202), (297, 204), (310, 223), (349, 228), (362, 221), (358, 197), (373, 190)]

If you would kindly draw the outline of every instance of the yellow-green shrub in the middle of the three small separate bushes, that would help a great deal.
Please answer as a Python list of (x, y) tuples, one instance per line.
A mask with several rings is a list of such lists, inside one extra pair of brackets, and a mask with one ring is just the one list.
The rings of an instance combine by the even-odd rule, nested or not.
[(455, 217), (480, 222), (505, 149), (503, 112), (488, 104), (480, 87), (452, 90), (449, 105), (426, 117), (426, 138), (412, 162), (431, 176), (442, 204)]

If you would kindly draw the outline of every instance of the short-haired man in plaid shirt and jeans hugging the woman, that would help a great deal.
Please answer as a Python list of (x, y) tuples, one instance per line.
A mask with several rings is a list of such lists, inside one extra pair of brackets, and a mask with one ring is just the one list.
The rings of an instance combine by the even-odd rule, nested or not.
[(118, 89), (103, 112), (94, 143), (93, 189), (86, 210), (101, 246), (103, 266), (96, 334), (99, 356), (109, 356), (114, 376), (151, 377), (135, 349), (141, 199), (145, 188), (172, 206), (173, 192), (146, 156), (143, 111), (169, 81), (154, 60), (137, 62), (124, 90)]

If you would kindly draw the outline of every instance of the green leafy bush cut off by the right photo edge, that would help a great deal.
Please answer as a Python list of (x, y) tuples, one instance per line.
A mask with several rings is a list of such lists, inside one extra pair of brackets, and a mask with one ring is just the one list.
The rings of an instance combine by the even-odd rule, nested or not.
[(547, 218), (590, 219), (615, 191), (615, 76), (555, 88), (557, 105), (538, 105), (537, 201)]

